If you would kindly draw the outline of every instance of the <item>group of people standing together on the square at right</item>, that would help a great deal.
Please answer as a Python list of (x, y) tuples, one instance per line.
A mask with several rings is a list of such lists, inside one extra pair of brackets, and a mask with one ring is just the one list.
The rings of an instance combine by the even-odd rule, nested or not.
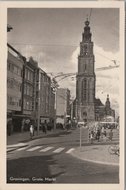
[(112, 138), (113, 138), (112, 129), (110, 129), (108, 133), (106, 132), (104, 127), (102, 127), (101, 129), (98, 128), (97, 130), (91, 130), (89, 132), (89, 139), (90, 139), (91, 144), (93, 143), (94, 140), (97, 140), (99, 142), (100, 139), (104, 139), (106, 141), (107, 138), (108, 140), (112, 141)]

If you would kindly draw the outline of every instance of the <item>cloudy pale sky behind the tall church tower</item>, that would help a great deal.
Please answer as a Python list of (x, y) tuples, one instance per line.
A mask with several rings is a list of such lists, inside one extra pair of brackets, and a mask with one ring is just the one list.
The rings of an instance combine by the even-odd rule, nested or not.
[[(48, 74), (76, 73), (84, 22), (90, 14), (95, 68), (114, 66), (112, 60), (120, 64), (116, 8), (9, 8), (7, 22), (13, 30), (8, 33), (8, 42), (26, 58), (32, 56)], [(76, 77), (59, 81), (59, 85), (69, 88), (75, 97)], [(96, 98), (105, 103), (107, 94), (118, 113), (119, 68), (96, 71)]]

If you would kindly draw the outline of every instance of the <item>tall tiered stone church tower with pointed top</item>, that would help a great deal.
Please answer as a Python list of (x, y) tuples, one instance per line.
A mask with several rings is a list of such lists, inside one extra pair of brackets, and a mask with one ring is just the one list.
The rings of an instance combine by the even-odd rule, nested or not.
[(93, 42), (89, 21), (85, 22), (82, 42), (80, 42), (80, 54), (78, 56), (78, 73), (76, 81), (76, 108), (80, 121), (95, 120), (95, 72)]

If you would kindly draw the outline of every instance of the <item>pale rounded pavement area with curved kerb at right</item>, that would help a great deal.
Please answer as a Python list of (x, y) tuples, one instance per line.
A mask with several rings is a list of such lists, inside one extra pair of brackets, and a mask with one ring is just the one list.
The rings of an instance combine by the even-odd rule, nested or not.
[(88, 162), (119, 166), (119, 156), (110, 154), (108, 151), (110, 144), (116, 143), (118, 144), (118, 141), (106, 142), (106, 144), (87, 144), (86, 146), (75, 148), (71, 155)]

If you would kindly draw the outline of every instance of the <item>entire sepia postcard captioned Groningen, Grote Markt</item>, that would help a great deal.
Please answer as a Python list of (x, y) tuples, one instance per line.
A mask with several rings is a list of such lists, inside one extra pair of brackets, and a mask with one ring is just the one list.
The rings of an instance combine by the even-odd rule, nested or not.
[(81, 4), (7, 7), (8, 185), (120, 189), (124, 5)]

